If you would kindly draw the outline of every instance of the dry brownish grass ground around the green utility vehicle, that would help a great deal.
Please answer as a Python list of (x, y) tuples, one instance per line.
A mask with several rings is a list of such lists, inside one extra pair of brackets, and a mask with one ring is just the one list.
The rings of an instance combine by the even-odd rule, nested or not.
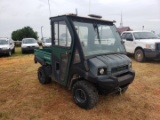
[[(15, 57), (16, 56), (16, 57)], [(79, 108), (71, 91), (52, 82), (41, 85), (33, 54), (0, 58), (0, 120), (159, 120), (160, 61), (138, 63), (134, 82), (122, 96), (100, 96), (91, 110)]]

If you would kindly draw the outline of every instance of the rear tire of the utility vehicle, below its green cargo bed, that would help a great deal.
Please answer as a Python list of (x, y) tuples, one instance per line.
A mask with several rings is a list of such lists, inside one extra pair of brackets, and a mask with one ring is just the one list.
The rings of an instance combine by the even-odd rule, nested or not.
[(45, 67), (41, 66), (38, 69), (38, 80), (41, 84), (48, 84), (51, 82), (51, 78), (47, 76)]

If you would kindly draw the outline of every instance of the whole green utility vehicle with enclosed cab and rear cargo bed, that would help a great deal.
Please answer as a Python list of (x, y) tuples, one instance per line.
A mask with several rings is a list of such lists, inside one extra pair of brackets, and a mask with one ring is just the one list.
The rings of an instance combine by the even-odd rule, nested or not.
[(75, 103), (96, 105), (99, 93), (123, 93), (135, 72), (114, 21), (74, 14), (51, 17), (50, 48), (34, 51), (42, 84), (56, 81), (72, 90)]

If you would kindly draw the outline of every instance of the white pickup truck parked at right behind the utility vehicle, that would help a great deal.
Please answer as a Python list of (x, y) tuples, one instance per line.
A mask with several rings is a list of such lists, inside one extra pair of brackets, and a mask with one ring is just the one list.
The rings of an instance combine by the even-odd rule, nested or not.
[(148, 31), (125, 31), (122, 39), (127, 53), (134, 54), (136, 61), (160, 58), (160, 38)]

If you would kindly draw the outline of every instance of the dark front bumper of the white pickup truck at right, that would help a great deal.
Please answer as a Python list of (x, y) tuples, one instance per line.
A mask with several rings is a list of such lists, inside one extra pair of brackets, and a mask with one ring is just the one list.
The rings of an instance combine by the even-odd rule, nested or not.
[(144, 49), (144, 54), (146, 58), (159, 59), (160, 50)]

